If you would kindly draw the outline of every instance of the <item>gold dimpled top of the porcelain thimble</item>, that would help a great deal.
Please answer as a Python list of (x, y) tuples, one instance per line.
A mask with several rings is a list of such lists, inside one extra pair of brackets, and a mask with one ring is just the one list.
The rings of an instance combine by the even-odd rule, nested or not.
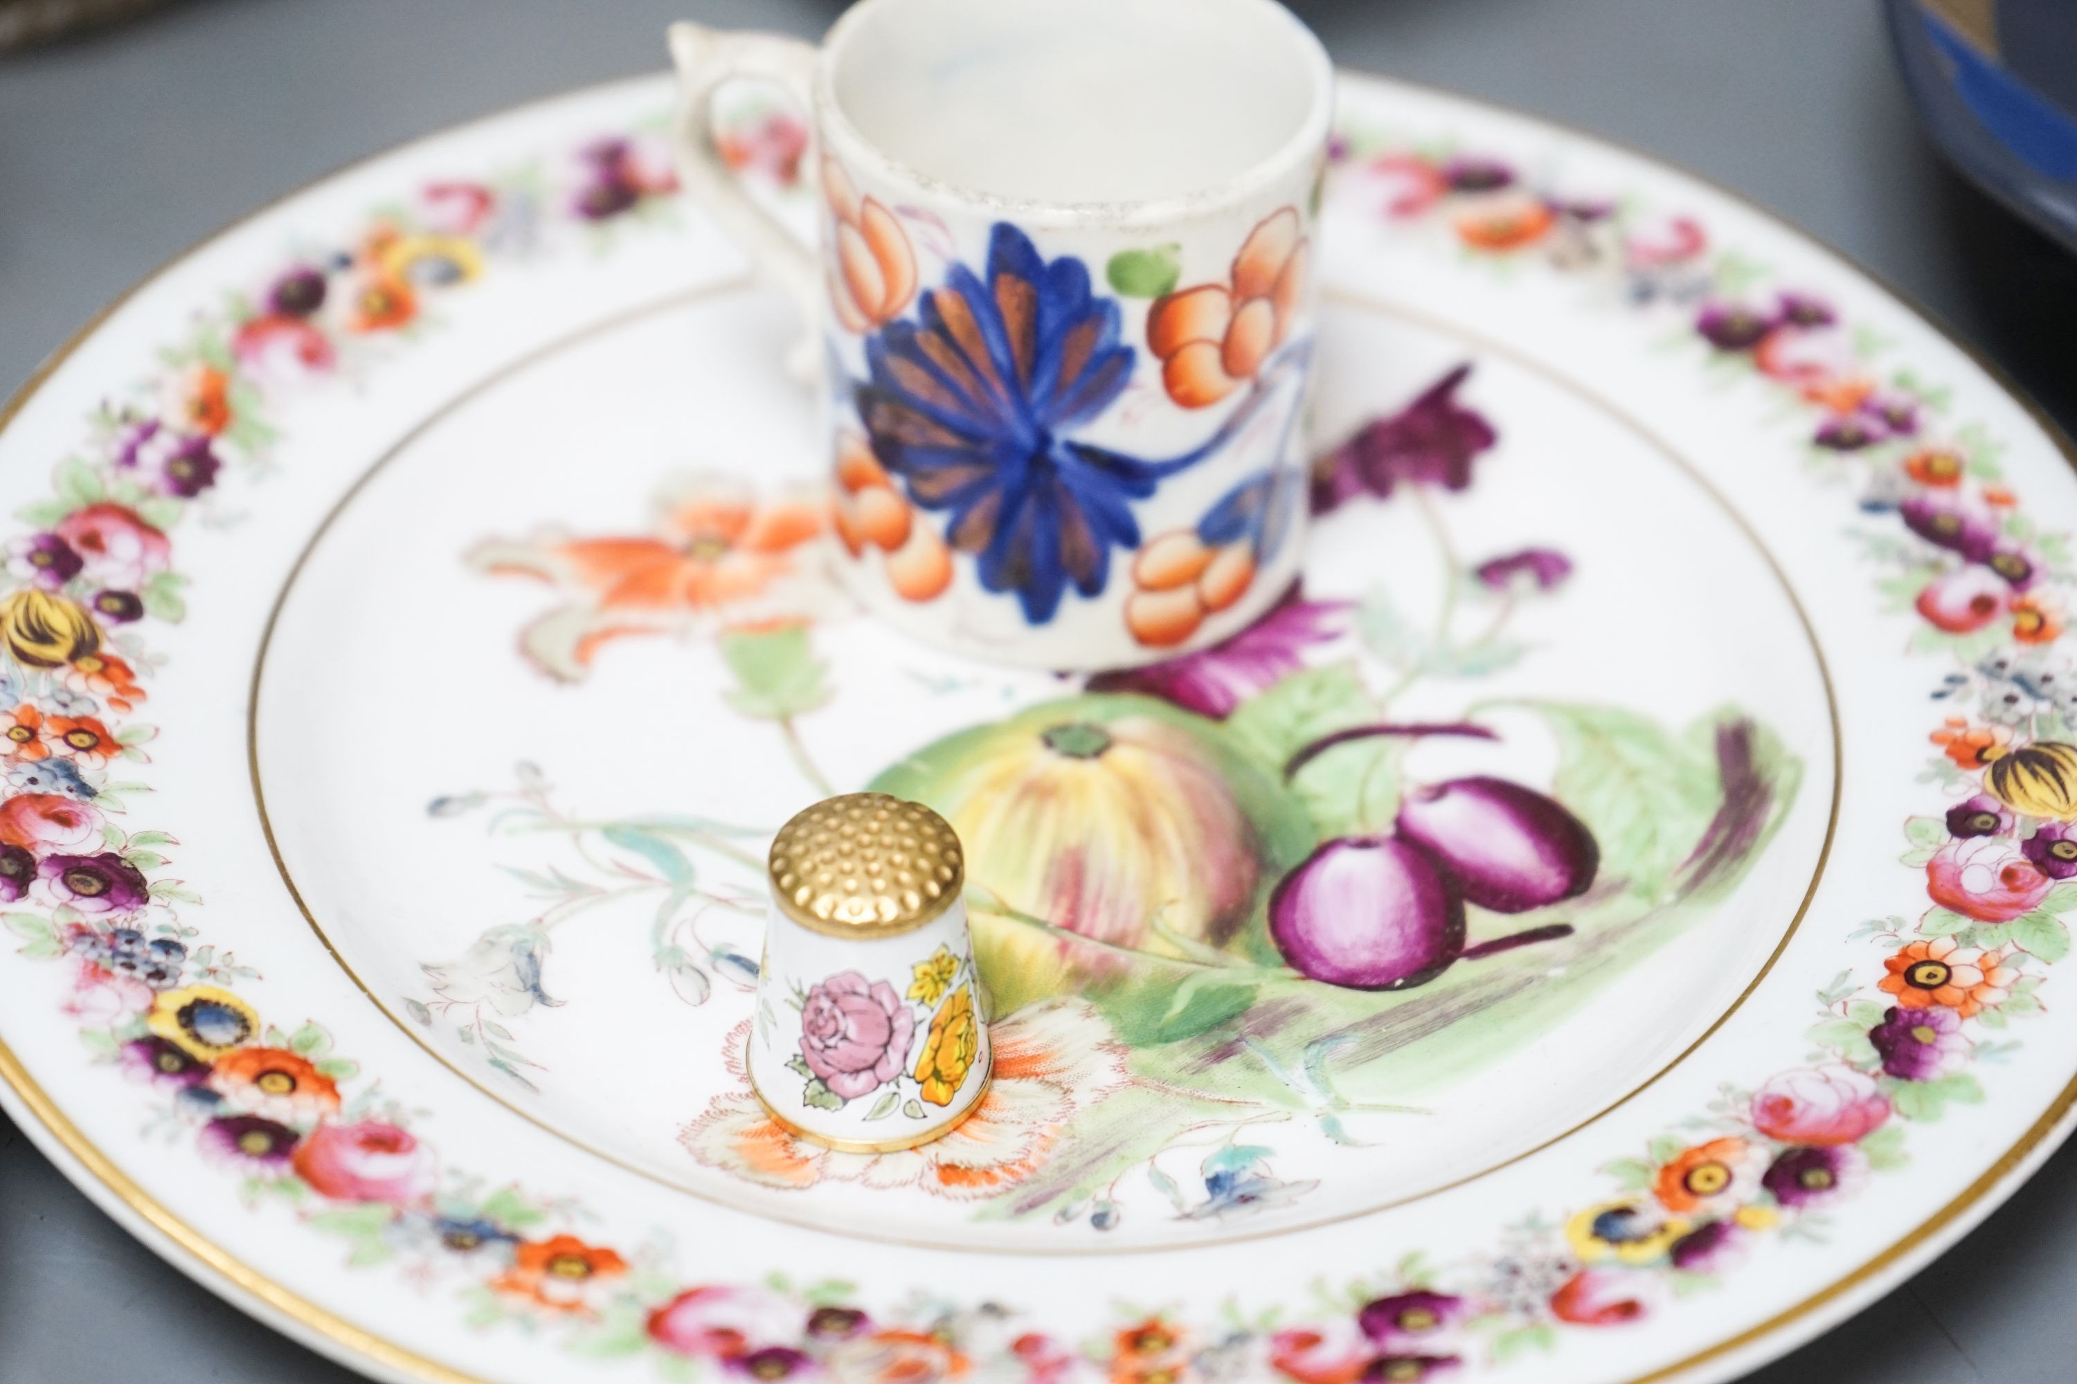
[(845, 793), (798, 813), (773, 836), (766, 867), (779, 909), (833, 938), (922, 928), (966, 882), (951, 824), (889, 793)]

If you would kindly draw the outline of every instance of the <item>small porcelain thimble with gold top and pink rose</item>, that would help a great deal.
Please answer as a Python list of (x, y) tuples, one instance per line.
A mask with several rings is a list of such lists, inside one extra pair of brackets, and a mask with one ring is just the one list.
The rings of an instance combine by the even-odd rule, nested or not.
[(825, 799), (779, 828), (766, 882), (758, 1100), (849, 1154), (951, 1131), (993, 1060), (951, 824), (887, 793)]

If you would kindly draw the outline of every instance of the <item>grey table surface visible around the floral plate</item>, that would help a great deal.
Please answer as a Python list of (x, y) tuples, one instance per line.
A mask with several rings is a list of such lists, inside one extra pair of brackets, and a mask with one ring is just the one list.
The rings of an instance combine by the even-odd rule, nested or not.
[[(0, 396), (233, 216), (399, 139), (837, 0), (183, 0), (0, 58)], [(2077, 430), (2077, 261), (1915, 129), (1876, 0), (1298, 0), (1350, 66), (1684, 164), (1919, 299)], [(1763, 1384), (2077, 1378), (2077, 1150)], [(345, 1382), (131, 1241), (0, 1116), (0, 1384)]]

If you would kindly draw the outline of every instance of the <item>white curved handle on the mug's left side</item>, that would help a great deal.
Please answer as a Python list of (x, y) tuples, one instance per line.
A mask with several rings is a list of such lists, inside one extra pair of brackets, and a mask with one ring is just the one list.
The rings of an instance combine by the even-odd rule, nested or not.
[(714, 147), (714, 91), (737, 77), (771, 81), (808, 112), (810, 149), (802, 176), (816, 178), (814, 158), (814, 44), (783, 33), (723, 33), (694, 23), (671, 25), (671, 60), (677, 64), (679, 102), (673, 124), (679, 181), (700, 199), (721, 232), (779, 284), (808, 322), (806, 336), (787, 355), (787, 371), (814, 380), (820, 361), (816, 324), (822, 313), (822, 272), (814, 251), (785, 222), (766, 212)]

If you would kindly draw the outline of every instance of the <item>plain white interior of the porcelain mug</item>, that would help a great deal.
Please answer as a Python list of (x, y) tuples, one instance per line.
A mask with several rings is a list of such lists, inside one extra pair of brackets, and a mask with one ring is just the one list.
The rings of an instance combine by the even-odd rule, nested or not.
[(1188, 197), (1325, 133), (1325, 54), (1273, 0), (864, 0), (825, 62), (868, 145), (1016, 201)]

